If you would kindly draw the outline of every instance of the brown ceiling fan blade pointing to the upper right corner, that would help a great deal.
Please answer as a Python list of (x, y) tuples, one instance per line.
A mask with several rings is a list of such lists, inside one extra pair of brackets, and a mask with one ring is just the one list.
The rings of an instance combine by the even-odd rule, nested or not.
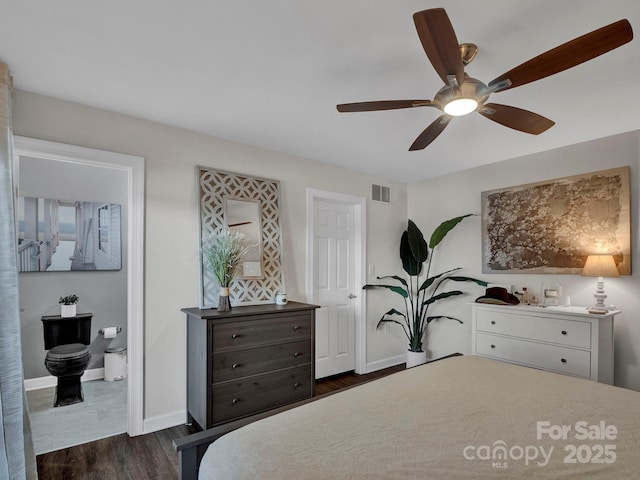
[(626, 19), (619, 20), (611, 25), (575, 38), (570, 42), (563, 43), (518, 65), (489, 82), (489, 88), (506, 80), (511, 83), (505, 84), (494, 91), (500, 92), (535, 82), (596, 58), (630, 42), (632, 39), (633, 30), (629, 21)]

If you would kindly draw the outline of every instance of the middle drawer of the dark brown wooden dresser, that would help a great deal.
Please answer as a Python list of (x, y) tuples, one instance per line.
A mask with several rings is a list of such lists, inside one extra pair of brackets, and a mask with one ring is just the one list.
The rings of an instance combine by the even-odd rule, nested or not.
[(311, 340), (214, 353), (213, 383), (311, 363)]

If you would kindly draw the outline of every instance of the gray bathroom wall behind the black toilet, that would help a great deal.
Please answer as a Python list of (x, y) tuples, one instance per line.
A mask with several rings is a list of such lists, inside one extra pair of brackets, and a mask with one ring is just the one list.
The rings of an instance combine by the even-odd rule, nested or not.
[[(25, 379), (49, 375), (44, 366), (46, 352), (40, 318), (58, 315), (58, 299), (72, 293), (80, 297), (78, 313), (93, 313), (88, 368), (100, 368), (104, 365), (106, 347), (126, 345), (127, 342), (127, 178), (123, 172), (97, 166), (20, 157), (18, 180), (18, 194), (21, 196), (122, 205), (122, 270), (20, 274)], [(115, 339), (105, 340), (98, 331), (107, 326), (120, 326), (122, 333)]]

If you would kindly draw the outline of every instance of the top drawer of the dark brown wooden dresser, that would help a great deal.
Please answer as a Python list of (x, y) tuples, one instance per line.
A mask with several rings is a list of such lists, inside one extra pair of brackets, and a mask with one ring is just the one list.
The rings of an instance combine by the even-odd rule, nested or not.
[(264, 315), (260, 319), (213, 325), (213, 351), (311, 338), (308, 314)]

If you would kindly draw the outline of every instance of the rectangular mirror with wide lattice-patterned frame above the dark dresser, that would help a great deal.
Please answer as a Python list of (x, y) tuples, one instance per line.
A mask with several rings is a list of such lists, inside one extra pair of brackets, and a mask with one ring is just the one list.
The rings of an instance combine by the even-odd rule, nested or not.
[[(256, 248), (229, 289), (231, 305), (274, 303), (283, 290), (280, 182), (197, 167), (199, 246), (222, 230), (238, 230)], [(218, 305), (219, 285), (199, 258), (200, 308)]]

